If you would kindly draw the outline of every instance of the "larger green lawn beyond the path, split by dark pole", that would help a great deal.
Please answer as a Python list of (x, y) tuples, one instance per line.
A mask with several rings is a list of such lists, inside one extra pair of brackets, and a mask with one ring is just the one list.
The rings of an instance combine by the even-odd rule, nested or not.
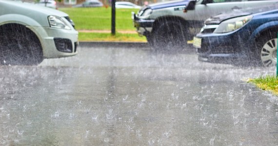
[[(77, 30), (111, 30), (111, 7), (60, 8), (74, 21)], [(131, 12), (138, 9), (116, 9), (116, 31), (136, 30)]]

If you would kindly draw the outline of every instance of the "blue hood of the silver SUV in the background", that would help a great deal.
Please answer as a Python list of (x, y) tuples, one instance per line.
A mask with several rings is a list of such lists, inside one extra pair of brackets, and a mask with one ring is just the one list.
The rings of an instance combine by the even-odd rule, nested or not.
[(168, 7), (175, 7), (175, 6), (185, 6), (191, 0), (173, 0), (173, 1), (166, 1), (166, 2), (159, 2), (155, 4), (150, 4), (146, 7), (151, 8), (153, 10), (168, 8)]

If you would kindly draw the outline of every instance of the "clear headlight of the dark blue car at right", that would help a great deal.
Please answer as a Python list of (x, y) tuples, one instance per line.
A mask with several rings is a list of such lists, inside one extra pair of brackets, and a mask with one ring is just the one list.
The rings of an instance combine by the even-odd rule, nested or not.
[(247, 22), (249, 22), (253, 16), (243, 16), (238, 18), (231, 18), (225, 20), (219, 24), (214, 33), (228, 33), (235, 31), (243, 27)]

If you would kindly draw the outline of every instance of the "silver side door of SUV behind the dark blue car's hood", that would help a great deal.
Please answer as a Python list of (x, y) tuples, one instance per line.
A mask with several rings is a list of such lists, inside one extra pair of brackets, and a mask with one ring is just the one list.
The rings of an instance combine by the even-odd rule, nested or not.
[(203, 0), (195, 6), (195, 17), (206, 20), (211, 16), (244, 8), (242, 0)]

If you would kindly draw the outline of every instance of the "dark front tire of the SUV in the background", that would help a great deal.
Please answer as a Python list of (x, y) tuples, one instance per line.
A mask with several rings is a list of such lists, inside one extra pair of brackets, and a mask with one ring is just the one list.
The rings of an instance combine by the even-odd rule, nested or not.
[(175, 52), (187, 46), (188, 33), (184, 25), (179, 20), (162, 21), (153, 33), (153, 48), (159, 51)]

